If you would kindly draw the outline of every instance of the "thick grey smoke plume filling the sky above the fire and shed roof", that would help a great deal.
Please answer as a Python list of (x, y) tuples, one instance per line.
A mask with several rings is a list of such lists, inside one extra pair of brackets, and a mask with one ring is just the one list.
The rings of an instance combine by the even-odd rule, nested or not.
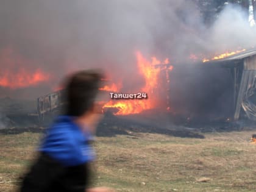
[[(49, 80), (0, 88), (1, 96), (34, 98), (52, 91), (71, 71), (104, 68), (113, 81), (134, 84), (135, 52), (188, 63), (189, 55), (251, 48), (255, 30), (243, 10), (227, 5), (205, 26), (193, 1), (2, 0), (1, 76), (40, 70)], [(25, 74), (23, 75), (25, 76)], [(11, 78), (11, 77), (10, 77)], [(37, 90), (37, 91), (35, 91)], [(17, 94), (18, 93), (18, 94)]]

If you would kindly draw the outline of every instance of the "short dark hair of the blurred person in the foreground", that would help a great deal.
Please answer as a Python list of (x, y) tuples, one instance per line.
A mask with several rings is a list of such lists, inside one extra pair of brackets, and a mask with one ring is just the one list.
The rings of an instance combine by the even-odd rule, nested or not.
[(80, 116), (91, 110), (101, 87), (99, 70), (79, 71), (66, 82), (66, 115)]

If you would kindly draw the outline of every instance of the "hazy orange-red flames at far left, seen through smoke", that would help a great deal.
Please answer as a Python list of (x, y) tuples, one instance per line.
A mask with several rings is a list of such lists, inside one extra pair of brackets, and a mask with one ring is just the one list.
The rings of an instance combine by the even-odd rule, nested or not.
[(0, 86), (9, 88), (30, 87), (49, 80), (49, 74), (43, 73), (37, 69), (34, 73), (29, 73), (25, 69), (20, 69), (16, 74), (10, 74), (8, 71), (2, 73), (0, 77)]

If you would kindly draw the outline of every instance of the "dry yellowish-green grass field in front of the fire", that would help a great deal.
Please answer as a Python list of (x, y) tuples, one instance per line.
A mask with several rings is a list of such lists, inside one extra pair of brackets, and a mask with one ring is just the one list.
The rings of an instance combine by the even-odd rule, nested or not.
[[(253, 131), (204, 139), (152, 133), (98, 137), (94, 185), (116, 191), (256, 191)], [(41, 133), (0, 135), (0, 191), (15, 191)]]

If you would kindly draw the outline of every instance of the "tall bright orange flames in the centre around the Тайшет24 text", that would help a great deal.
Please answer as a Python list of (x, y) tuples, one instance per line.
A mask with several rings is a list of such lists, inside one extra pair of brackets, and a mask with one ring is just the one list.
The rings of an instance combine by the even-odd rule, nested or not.
[[(144, 77), (145, 84), (141, 87), (140, 92), (148, 94), (147, 99), (125, 99), (125, 100), (111, 100), (104, 105), (103, 108), (118, 108), (118, 112), (115, 115), (127, 115), (143, 112), (144, 110), (149, 110), (155, 108), (157, 105), (157, 94), (154, 94), (158, 85), (158, 75), (160, 73), (160, 68), (156, 68), (155, 65), (161, 64), (160, 60), (156, 57), (152, 57), (151, 61), (146, 60), (141, 52), (136, 53), (137, 56), (137, 66), (141, 76)], [(167, 64), (169, 62), (166, 59), (163, 63)], [(172, 68), (169, 68), (172, 69)], [(106, 90), (109, 87), (104, 87)], [(120, 90), (116, 90), (117, 86), (112, 85), (112, 90), (119, 93)]]

